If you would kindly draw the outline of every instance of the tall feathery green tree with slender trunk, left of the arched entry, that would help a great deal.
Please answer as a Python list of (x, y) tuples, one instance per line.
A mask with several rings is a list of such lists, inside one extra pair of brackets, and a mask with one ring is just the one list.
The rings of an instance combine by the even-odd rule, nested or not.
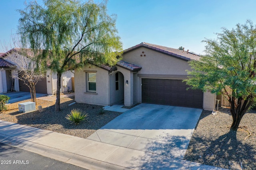
[(106, 2), (79, 0), (36, 1), (19, 10), (18, 33), (22, 43), (34, 51), (42, 50), (42, 59), (57, 73), (56, 111), (60, 110), (62, 73), (91, 62), (117, 62), (114, 51), (122, 49), (115, 27), (116, 16), (107, 14)]

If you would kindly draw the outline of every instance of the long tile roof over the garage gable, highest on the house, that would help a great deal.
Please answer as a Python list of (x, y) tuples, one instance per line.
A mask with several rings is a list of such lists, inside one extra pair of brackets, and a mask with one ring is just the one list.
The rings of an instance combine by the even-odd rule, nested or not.
[(199, 60), (200, 59), (200, 55), (198, 55), (196, 53), (190, 53), (188, 51), (183, 51), (183, 50), (179, 50), (179, 49), (174, 49), (174, 48), (170, 48), (170, 47), (165, 47), (165, 46), (155, 45), (155, 44), (150, 44), (150, 43), (145, 43), (145, 42), (142, 42), (138, 45), (130, 47), (130, 48), (124, 50), (123, 53), (124, 54), (128, 53), (129, 51), (138, 49), (140, 47), (145, 47), (147, 49), (152, 49), (154, 51), (158, 51), (160, 53), (164, 53), (166, 55), (170, 55), (172, 57), (176, 57), (178, 59), (182, 59), (182, 60), (185, 60), (185, 61)]

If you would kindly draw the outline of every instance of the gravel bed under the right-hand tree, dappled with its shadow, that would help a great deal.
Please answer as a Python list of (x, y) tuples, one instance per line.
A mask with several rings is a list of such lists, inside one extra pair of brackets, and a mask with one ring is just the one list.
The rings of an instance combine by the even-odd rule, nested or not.
[(222, 108), (212, 115), (203, 111), (184, 159), (226, 169), (256, 170), (256, 112), (246, 113), (240, 122), (242, 129), (230, 131), (232, 116), (229, 109)]

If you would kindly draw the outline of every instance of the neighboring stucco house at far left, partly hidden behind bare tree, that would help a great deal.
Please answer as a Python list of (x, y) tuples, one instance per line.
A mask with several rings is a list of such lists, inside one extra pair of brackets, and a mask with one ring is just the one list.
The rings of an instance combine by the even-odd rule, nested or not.
[[(32, 51), (27, 50), (28, 55), (32, 56)], [(22, 80), (18, 79), (17, 70), (18, 65), (17, 62), (20, 60), (15, 60), (17, 57), (21, 56), (21, 49), (13, 48), (6, 53), (0, 53), (0, 63), (4, 61), (6, 64), (6, 68), (0, 70), (0, 93), (6, 93), (11, 90), (12, 81), (14, 84), (13, 91), (22, 91), (22, 92), (30, 92), (29, 88), (24, 84)], [(0, 66), (1, 69), (1, 66)], [(73, 77), (73, 78), (72, 78)], [(73, 83), (72, 83), (73, 79)], [(69, 92), (74, 90), (74, 70), (66, 71), (62, 74), (61, 77), (61, 89), (60, 92)], [(1, 90), (2, 84), (2, 90)], [(46, 75), (36, 84), (36, 92), (42, 94), (55, 94), (57, 88), (57, 74), (52, 72), (51, 70), (47, 70)]]

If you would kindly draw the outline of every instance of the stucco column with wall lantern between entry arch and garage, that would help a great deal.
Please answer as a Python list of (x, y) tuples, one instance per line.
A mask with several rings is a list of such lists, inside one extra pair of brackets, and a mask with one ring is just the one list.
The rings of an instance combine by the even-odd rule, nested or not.
[[(126, 80), (128, 81), (126, 83)], [(133, 105), (133, 72), (124, 76), (124, 106)]]

